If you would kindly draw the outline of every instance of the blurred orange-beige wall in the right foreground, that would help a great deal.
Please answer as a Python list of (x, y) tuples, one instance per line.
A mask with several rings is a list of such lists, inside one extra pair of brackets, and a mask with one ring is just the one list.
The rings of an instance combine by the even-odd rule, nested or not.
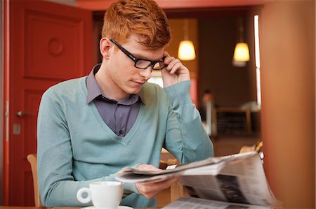
[(265, 171), (285, 208), (315, 208), (315, 1), (260, 15)]

